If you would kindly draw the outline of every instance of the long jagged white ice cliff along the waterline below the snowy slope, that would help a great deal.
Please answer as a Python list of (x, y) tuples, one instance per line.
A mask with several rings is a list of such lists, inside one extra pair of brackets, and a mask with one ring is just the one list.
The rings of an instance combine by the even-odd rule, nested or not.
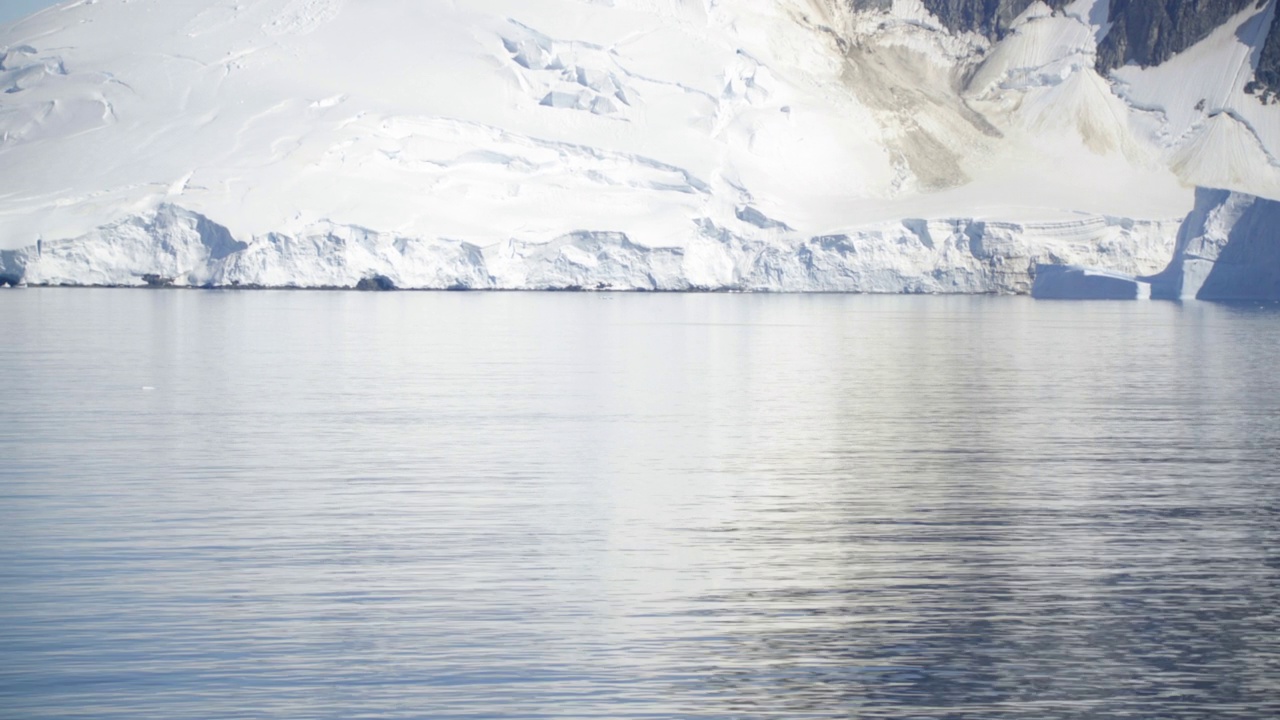
[(5, 251), (0, 278), (41, 286), (351, 288), (379, 278), (421, 290), (1025, 293), (1041, 264), (1153, 272), (1172, 251), (1175, 231), (1174, 223), (1106, 217), (909, 219), (805, 236), (740, 215), (736, 224), (703, 218), (666, 246), (591, 229), (477, 246), (334, 223), (241, 241), (198, 213), (161, 205), (81, 237)]

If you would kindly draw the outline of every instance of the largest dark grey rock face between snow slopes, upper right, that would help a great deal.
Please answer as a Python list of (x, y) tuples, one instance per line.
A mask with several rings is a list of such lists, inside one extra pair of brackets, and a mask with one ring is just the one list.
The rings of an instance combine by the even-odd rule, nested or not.
[(1208, 37), (1256, 0), (1111, 0), (1114, 23), (1098, 45), (1098, 72), (1158, 65)]

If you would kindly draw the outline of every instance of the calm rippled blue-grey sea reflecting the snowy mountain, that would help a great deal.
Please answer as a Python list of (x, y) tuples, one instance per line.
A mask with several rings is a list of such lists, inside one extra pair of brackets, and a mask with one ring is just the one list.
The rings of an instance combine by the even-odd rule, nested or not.
[(1280, 716), (1280, 309), (0, 292), (0, 716)]

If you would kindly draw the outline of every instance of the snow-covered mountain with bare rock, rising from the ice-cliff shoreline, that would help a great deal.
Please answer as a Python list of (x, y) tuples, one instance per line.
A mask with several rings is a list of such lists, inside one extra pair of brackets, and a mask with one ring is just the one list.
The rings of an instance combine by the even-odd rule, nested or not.
[[(1147, 5), (1165, 14), (1144, 22)], [(1196, 186), (1280, 199), (1275, 14), (64, 3), (0, 26), (0, 282), (1027, 292), (1041, 264), (1152, 275)]]

